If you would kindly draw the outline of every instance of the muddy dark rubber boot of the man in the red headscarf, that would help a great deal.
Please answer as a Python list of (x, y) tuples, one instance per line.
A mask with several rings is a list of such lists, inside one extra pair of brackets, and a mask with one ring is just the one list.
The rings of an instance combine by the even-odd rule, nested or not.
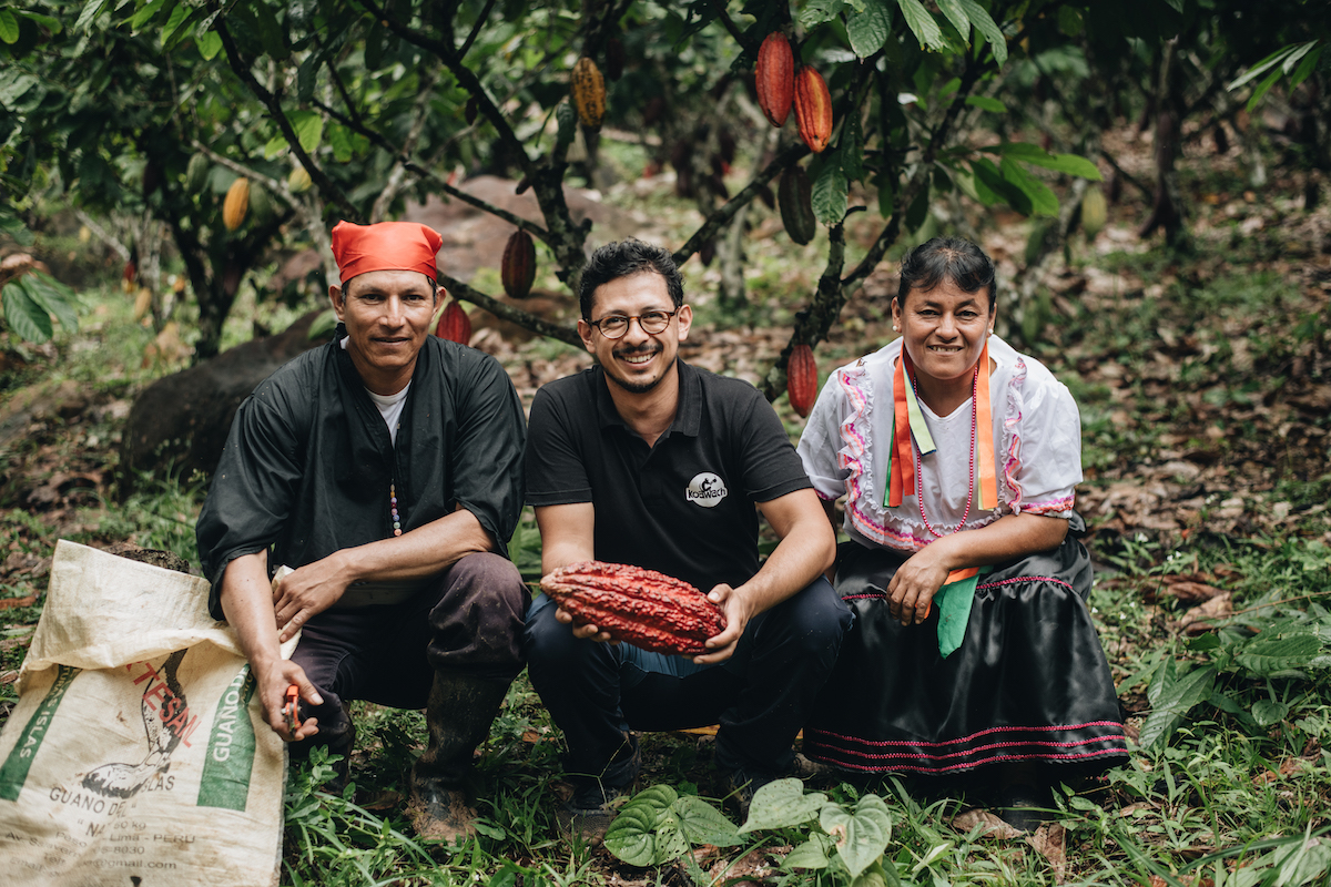
[(455, 843), (475, 834), (475, 809), (465, 783), (471, 757), (490, 735), (511, 681), (476, 678), (462, 672), (435, 672), (426, 705), (430, 745), (411, 767), (407, 818), (419, 838)]

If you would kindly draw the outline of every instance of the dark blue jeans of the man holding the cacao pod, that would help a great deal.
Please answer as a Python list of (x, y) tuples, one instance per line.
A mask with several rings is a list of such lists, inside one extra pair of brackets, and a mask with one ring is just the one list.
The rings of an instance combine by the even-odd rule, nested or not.
[(749, 775), (791, 767), (791, 743), (832, 673), (851, 609), (827, 580), (749, 620), (735, 656), (716, 665), (574, 637), (540, 594), (527, 610), (531, 684), (568, 742), (575, 783), (620, 787), (631, 762), (615, 753), (628, 730), (720, 723), (716, 766)]

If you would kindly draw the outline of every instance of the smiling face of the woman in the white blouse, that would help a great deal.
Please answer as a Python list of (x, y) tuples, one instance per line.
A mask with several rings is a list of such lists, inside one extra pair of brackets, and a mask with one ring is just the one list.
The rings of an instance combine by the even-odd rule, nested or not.
[(892, 301), (892, 323), (901, 331), (921, 386), (965, 382), (994, 331), (989, 291), (966, 293), (952, 281), (910, 290)]

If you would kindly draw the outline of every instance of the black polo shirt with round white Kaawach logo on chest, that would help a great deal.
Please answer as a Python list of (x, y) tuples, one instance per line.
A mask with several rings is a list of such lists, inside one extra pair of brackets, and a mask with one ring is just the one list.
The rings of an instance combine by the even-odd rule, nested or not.
[(536, 392), (527, 503), (592, 503), (596, 559), (704, 592), (759, 568), (756, 503), (812, 487), (772, 406), (740, 379), (679, 362), (679, 412), (647, 445), (615, 410), (600, 367)]

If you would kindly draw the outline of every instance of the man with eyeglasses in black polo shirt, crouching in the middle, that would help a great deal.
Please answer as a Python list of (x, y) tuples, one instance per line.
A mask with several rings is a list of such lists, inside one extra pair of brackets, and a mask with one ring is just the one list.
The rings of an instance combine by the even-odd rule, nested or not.
[[(789, 773), (851, 614), (823, 578), (835, 537), (771, 404), (679, 359), (693, 311), (669, 253), (603, 246), (579, 295), (596, 366), (538, 391), (528, 423), (542, 570), (655, 569), (708, 592), (727, 620), (689, 658), (612, 644), (544, 594), (532, 602), (528, 674), (564, 731), (574, 786), (558, 821), (595, 842), (640, 769), (635, 730), (720, 723), (715, 763), (747, 815), (753, 791)], [(761, 564), (757, 511), (781, 539)]]

